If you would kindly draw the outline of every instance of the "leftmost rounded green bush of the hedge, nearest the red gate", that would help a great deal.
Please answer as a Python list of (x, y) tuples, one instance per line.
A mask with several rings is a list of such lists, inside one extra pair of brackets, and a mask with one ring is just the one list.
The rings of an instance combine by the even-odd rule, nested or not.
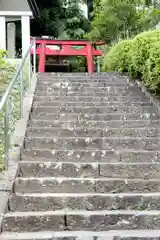
[(114, 45), (105, 55), (103, 62), (104, 71), (128, 71), (129, 65), (129, 49), (131, 48), (132, 40), (123, 40)]

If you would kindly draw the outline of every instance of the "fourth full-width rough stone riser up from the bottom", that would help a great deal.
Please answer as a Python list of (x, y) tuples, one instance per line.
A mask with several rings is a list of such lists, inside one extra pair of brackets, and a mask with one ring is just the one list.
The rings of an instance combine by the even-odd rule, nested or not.
[(20, 161), (21, 177), (104, 177), (104, 178), (159, 178), (160, 162), (104, 163), (104, 162), (34, 162)]

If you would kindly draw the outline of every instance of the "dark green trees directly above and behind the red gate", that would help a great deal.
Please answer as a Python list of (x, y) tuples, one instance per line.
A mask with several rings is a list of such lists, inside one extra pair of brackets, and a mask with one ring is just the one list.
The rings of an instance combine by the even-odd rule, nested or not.
[(40, 1), (39, 7), (41, 16), (31, 24), (33, 36), (77, 39), (82, 38), (90, 29), (89, 22), (76, 0), (55, 0), (51, 1), (51, 4)]

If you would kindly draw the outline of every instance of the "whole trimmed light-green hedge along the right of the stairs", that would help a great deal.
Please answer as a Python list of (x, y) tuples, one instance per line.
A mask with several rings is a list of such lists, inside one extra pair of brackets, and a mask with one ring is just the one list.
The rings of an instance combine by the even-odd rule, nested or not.
[(104, 58), (104, 71), (129, 72), (154, 93), (160, 92), (160, 30), (143, 32), (113, 46)]

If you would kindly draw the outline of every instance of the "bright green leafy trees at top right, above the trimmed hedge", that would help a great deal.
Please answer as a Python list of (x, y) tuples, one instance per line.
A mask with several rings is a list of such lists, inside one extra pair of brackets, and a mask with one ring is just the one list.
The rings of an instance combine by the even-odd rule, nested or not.
[(93, 6), (88, 37), (108, 44), (135, 36), (160, 20), (159, 10), (144, 0), (95, 0)]

